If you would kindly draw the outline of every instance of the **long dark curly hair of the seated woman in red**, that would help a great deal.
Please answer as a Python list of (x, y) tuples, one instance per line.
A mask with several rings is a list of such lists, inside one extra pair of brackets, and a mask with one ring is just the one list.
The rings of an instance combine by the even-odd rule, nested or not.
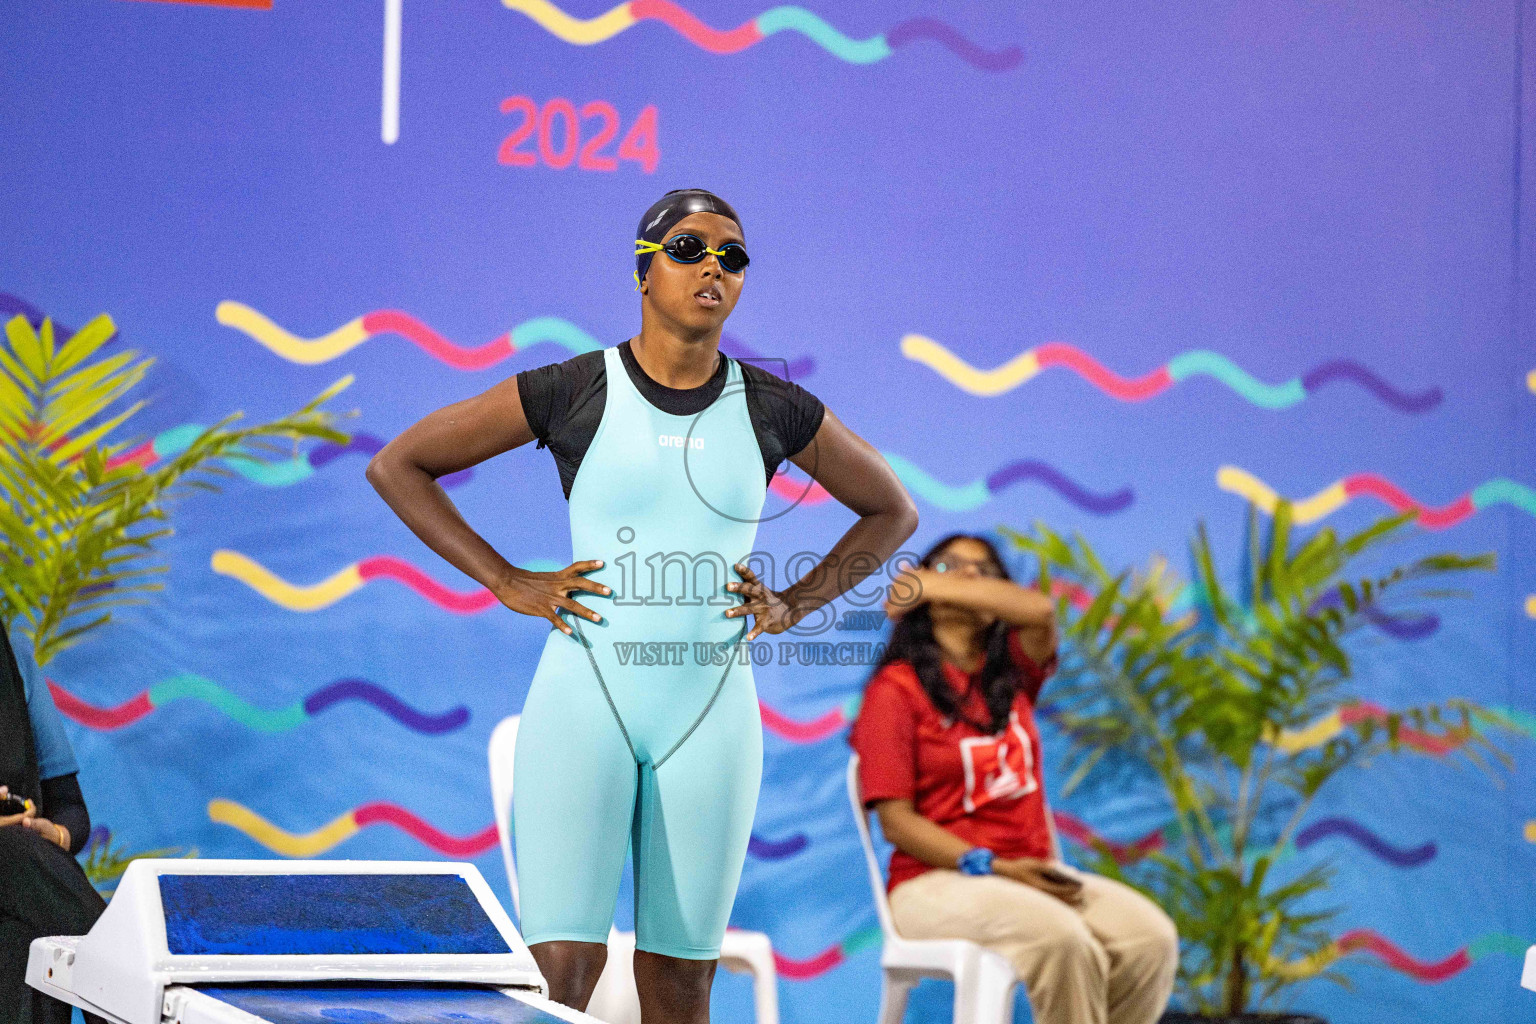
[[(922, 568), (929, 568), (938, 553), (955, 540), (975, 540), (977, 543), (985, 545), (988, 557), (992, 559), (992, 563), (998, 568), (1003, 579), (1014, 579), (1008, 573), (1008, 565), (1003, 563), (1001, 556), (997, 553), (997, 547), (986, 537), (978, 537), (969, 533), (951, 533), (946, 537), (940, 537), (934, 547), (928, 548), (928, 553), (922, 557), (919, 565)], [(938, 714), (948, 718), (969, 722), (977, 729), (988, 734), (1001, 732), (1008, 726), (1008, 715), (1014, 708), (1014, 697), (1018, 694), (1020, 682), (1018, 671), (1008, 652), (1008, 629), (1009, 625), (998, 619), (986, 628), (983, 640), (986, 660), (982, 665), (980, 683), (982, 695), (986, 699), (988, 714), (992, 718), (991, 725), (974, 722), (960, 712), (960, 705), (955, 702), (954, 689), (945, 680), (943, 652), (938, 648), (938, 642), (934, 640), (934, 617), (926, 603), (919, 605), (897, 619), (895, 626), (891, 631), (891, 640), (886, 643), (885, 654), (880, 662), (874, 666), (871, 679), (874, 679), (874, 676), (891, 662), (908, 662), (917, 671), (917, 680), (923, 685), (923, 691), (934, 703), (934, 708), (938, 709)]]

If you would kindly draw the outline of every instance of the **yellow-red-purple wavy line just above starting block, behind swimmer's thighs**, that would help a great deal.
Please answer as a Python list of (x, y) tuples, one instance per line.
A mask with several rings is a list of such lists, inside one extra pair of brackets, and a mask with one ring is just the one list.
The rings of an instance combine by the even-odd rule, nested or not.
[[(393, 826), (422, 846), (445, 857), (479, 857), (496, 846), (495, 821), (472, 835), (449, 835), (399, 804), (386, 801), (353, 808), (313, 832), (303, 834), (289, 832), (272, 824), (250, 808), (233, 800), (209, 800), (207, 817), (212, 821), (244, 832), (278, 857), (319, 857), (370, 824)], [(809, 838), (803, 832), (793, 832), (782, 840), (765, 840), (754, 834), (746, 843), (746, 852), (759, 860), (783, 860), (785, 857), (794, 857), (808, 844)]]

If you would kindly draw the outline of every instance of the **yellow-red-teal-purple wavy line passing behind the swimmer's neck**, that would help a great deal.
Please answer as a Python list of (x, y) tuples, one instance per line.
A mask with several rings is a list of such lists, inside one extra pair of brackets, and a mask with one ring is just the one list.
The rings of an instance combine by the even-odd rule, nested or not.
[[(381, 335), (398, 335), (438, 362), (450, 365), (455, 370), (485, 370), (502, 359), (515, 356), (519, 352), (527, 352), (542, 342), (556, 344), (573, 356), (602, 348), (591, 335), (559, 316), (527, 319), (510, 332), (478, 347), (465, 347), (450, 341), (410, 313), (401, 310), (373, 310), (318, 338), (300, 338), (275, 324), (264, 313), (253, 310), (244, 302), (230, 299), (224, 299), (215, 307), (214, 318), (226, 327), (233, 327), (249, 335), (289, 362), (301, 365), (318, 365), (339, 359), (362, 342)], [(816, 359), (811, 356), (796, 356), (783, 361), (771, 359), (731, 336), (720, 338), (720, 348), (728, 356), (746, 362), (782, 362), (786, 379), (791, 381), (816, 372)], [(195, 438), (197, 433), (194, 431), (192, 436)]]

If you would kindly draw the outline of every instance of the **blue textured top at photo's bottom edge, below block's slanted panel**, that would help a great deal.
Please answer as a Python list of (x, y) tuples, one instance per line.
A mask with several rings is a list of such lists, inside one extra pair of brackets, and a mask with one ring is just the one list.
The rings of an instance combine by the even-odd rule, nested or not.
[(473, 986), (200, 986), (272, 1024), (564, 1024), (527, 1003)]

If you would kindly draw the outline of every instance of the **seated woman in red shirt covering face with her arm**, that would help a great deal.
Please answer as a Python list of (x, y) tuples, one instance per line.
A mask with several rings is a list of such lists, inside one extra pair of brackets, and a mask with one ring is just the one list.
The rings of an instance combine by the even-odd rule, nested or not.
[(1037, 1024), (1152, 1024), (1178, 966), (1174, 923), (1055, 858), (1034, 718), (1055, 668), (1051, 599), (1014, 583), (991, 542), (952, 534), (894, 580), (886, 614), (849, 743), (895, 844), (897, 930), (1003, 955)]

